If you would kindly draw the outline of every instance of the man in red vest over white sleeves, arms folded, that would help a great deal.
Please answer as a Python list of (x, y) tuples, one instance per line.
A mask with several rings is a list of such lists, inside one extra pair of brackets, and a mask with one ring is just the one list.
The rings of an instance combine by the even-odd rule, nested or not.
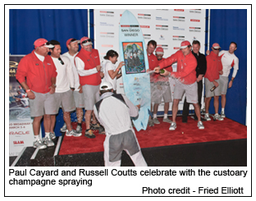
[[(85, 136), (95, 138), (93, 130), (99, 130), (99, 133), (103, 133), (103, 127), (98, 125), (93, 112), (94, 104), (99, 101), (98, 91), (103, 72), (100, 71), (98, 50), (93, 48), (92, 40), (84, 36), (80, 39), (80, 45), (80, 52), (75, 56), (75, 66), (85, 98)], [(93, 121), (90, 126), (92, 116)]]

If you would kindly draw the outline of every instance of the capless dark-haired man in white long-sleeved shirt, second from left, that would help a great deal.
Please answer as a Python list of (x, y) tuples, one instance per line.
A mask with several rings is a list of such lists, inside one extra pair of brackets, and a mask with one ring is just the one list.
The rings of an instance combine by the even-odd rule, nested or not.
[[(50, 53), (57, 69), (55, 89), (57, 111), (62, 106), (63, 118), (66, 123), (66, 136), (79, 137), (82, 133), (76, 133), (71, 126), (71, 112), (75, 110), (75, 100), (72, 93), (72, 90), (75, 89), (75, 82), (71, 61), (68, 57), (61, 56), (62, 48), (59, 42), (51, 40), (50, 43), (54, 45), (54, 48), (50, 48)], [(51, 133), (53, 133), (56, 116), (51, 116), (51, 120)]]

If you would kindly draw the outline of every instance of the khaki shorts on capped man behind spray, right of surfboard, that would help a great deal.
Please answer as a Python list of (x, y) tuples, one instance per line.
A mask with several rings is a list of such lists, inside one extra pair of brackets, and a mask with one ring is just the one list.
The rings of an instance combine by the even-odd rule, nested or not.
[(151, 102), (160, 104), (163, 98), (164, 103), (171, 103), (171, 87), (167, 82), (150, 83), (151, 88)]

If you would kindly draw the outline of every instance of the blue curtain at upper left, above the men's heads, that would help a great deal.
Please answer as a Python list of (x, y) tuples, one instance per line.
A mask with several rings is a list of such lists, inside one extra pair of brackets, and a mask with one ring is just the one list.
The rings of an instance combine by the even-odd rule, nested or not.
[(87, 10), (11, 9), (10, 53), (31, 53), (36, 39), (55, 39), (66, 53), (66, 40), (88, 36)]

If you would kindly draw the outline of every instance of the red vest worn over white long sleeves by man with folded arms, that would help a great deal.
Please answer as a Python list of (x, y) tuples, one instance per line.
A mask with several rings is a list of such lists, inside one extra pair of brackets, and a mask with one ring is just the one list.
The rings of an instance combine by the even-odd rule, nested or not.
[[(86, 51), (81, 48), (80, 52), (75, 56), (79, 57), (85, 63), (85, 70), (93, 69), (94, 67), (100, 65), (99, 55), (97, 49), (92, 49), (92, 52)], [(100, 85), (101, 77), (100, 71), (94, 73), (93, 75), (80, 76), (80, 85)]]

